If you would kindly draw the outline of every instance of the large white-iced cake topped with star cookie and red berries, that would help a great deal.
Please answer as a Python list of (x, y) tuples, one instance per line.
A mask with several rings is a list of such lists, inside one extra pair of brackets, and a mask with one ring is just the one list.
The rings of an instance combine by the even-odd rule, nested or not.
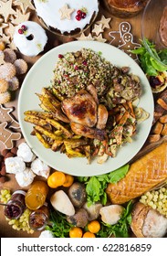
[(34, 0), (37, 16), (55, 33), (75, 35), (88, 27), (99, 12), (98, 0)]

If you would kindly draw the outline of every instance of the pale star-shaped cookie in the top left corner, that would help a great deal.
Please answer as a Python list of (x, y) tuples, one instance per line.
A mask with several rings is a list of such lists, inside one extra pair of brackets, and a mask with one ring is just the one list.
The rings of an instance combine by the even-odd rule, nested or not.
[(0, 15), (4, 16), (5, 22), (8, 21), (10, 15), (15, 15), (16, 11), (12, 8), (12, 0), (7, 2), (0, 1)]

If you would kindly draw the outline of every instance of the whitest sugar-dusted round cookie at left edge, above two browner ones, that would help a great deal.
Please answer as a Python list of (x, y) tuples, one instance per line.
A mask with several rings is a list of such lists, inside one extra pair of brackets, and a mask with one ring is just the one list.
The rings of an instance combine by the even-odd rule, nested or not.
[(16, 67), (12, 63), (0, 66), (0, 79), (12, 79), (16, 76)]

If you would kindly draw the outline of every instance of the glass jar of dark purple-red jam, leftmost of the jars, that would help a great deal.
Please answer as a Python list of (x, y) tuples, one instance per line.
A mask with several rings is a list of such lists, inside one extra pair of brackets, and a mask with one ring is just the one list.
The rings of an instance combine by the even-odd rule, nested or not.
[(26, 209), (26, 191), (16, 190), (5, 206), (5, 217), (7, 219), (18, 219)]

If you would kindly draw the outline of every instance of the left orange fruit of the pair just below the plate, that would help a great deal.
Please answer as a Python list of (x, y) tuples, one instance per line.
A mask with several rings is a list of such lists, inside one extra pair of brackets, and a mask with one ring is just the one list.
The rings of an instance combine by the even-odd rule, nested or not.
[(47, 178), (48, 187), (56, 188), (62, 186), (65, 183), (66, 176), (62, 172), (54, 172)]

